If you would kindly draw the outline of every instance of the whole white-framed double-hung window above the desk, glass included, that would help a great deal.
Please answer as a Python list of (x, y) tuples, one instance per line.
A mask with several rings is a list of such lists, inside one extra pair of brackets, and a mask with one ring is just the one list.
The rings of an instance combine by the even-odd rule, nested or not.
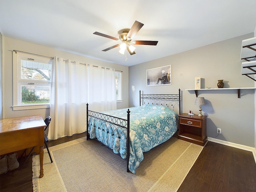
[(52, 60), (13, 52), (13, 109), (48, 108)]

